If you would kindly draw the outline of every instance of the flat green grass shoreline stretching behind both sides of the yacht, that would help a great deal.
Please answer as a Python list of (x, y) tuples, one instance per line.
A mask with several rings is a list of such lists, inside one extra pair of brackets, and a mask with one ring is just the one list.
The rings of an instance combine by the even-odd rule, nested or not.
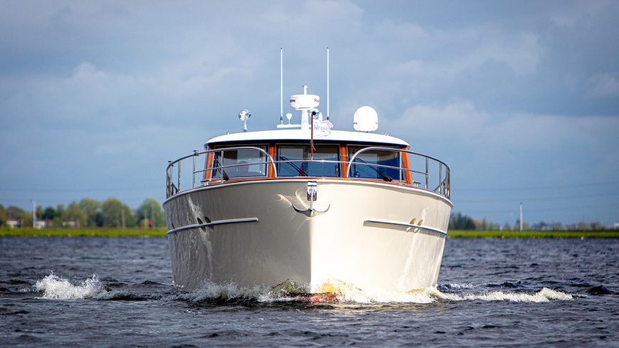
[[(0, 228), (0, 237), (165, 237), (166, 228)], [(448, 238), (619, 238), (608, 231), (448, 231)]]

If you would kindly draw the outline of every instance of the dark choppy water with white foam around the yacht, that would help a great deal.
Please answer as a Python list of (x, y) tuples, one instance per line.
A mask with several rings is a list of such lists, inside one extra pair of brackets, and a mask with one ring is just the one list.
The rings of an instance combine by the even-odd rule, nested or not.
[(618, 251), (449, 239), (438, 290), (312, 305), (232, 285), (176, 293), (164, 238), (0, 238), (0, 346), (618, 347)]

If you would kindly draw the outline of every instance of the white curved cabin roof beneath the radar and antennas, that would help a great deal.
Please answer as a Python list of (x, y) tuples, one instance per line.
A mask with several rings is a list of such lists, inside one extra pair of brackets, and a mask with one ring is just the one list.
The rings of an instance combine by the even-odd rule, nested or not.
[[(279, 142), (282, 140), (307, 140), (309, 142), (310, 136), (311, 132), (309, 130), (265, 130), (258, 132), (233, 133), (209, 139), (206, 144), (204, 144), (204, 147), (206, 147), (206, 145), (218, 144), (222, 142)], [(327, 135), (326, 137), (317, 137), (314, 132), (314, 142), (324, 141), (409, 146), (408, 142), (405, 142), (402, 139), (376, 133), (332, 130), (331, 135)]]

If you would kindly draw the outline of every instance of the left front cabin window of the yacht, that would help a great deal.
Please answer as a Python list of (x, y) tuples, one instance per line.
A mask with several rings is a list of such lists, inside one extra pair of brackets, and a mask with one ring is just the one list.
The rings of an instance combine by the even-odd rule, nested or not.
[[(243, 146), (258, 147), (268, 151), (266, 145)], [(258, 149), (227, 149), (231, 147), (234, 146), (222, 146), (221, 151), (213, 153), (211, 172), (213, 179), (221, 179), (222, 176), (224, 179), (267, 176), (267, 158), (264, 152)]]

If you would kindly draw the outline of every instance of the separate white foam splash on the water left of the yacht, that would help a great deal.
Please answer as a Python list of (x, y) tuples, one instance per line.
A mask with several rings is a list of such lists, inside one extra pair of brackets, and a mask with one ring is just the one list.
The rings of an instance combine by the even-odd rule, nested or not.
[(92, 278), (81, 281), (79, 285), (73, 285), (69, 280), (51, 273), (38, 280), (34, 288), (36, 291), (43, 291), (42, 298), (57, 300), (75, 300), (107, 295), (107, 291), (103, 289), (97, 275), (92, 275)]

